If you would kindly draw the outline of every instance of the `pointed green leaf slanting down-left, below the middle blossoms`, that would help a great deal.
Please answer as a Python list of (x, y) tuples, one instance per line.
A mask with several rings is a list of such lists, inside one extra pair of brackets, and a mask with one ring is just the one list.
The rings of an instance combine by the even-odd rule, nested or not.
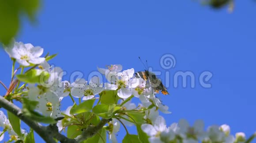
[(79, 114), (83, 112), (89, 112), (94, 104), (95, 99), (85, 100), (83, 103), (76, 105), (74, 104), (70, 110), (70, 114)]

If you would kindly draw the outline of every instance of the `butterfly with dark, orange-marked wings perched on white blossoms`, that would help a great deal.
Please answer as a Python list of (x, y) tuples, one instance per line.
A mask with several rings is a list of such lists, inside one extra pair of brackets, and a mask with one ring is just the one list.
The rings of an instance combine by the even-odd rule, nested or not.
[[(145, 64), (143, 65), (145, 66)], [(166, 87), (163, 85), (162, 81), (158, 79), (153, 72), (149, 72), (148, 70), (145, 70), (145, 72), (142, 72), (142, 71), (136, 72), (135, 75), (136, 75), (136, 78), (144, 79), (154, 89), (156, 93), (159, 93), (159, 91), (161, 90), (162, 94), (164, 95), (169, 94)]]

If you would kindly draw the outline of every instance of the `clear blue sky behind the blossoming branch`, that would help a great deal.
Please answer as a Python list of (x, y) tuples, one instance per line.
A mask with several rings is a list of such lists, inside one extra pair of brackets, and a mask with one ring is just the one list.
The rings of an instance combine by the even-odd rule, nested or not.
[[(255, 13), (253, 0), (236, 1), (232, 14), (193, 0), (44, 0), (38, 21), (31, 25), (23, 20), (16, 40), (41, 46), (45, 54), (58, 53), (50, 63), (67, 71), (65, 79), (75, 71), (87, 79), (106, 64), (141, 71), (140, 56), (153, 71), (162, 72), (163, 82), (170, 72), (170, 95), (158, 96), (172, 111), (162, 114), (167, 125), (181, 118), (191, 124), (203, 119), (207, 126), (226, 123), (231, 133), (249, 136), (256, 131)], [(169, 70), (161, 68), (165, 54), (176, 59)], [(9, 83), (11, 60), (3, 50), (0, 57), (0, 80)], [(174, 88), (178, 71), (192, 72), (195, 88), (183, 88), (181, 80)], [(211, 88), (200, 86), (204, 71), (213, 74)], [(64, 100), (63, 109), (68, 103), (72, 105)], [(124, 134), (121, 129), (119, 141)]]

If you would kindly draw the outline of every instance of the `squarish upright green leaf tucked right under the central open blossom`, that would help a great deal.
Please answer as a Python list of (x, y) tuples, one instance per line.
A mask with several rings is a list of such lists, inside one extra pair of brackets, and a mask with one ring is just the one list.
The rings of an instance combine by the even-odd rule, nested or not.
[(101, 104), (117, 104), (119, 97), (116, 90), (102, 91)]

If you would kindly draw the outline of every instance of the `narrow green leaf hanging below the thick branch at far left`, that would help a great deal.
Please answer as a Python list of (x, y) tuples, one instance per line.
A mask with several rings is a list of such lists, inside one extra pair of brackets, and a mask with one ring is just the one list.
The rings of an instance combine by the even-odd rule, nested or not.
[(14, 130), (14, 132), (17, 133), (19, 137), (21, 137), (22, 134), (20, 131), (20, 119), (9, 111), (7, 111), (7, 114), (8, 114), (8, 119), (11, 123), (12, 129)]

